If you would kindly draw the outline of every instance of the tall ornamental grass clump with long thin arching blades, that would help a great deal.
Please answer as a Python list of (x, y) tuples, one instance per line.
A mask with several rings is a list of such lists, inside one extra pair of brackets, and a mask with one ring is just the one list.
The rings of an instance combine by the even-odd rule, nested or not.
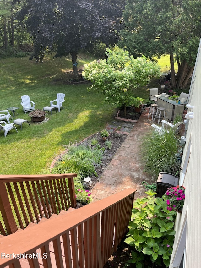
[(140, 154), (146, 162), (145, 170), (158, 175), (160, 172), (175, 174), (180, 168), (177, 157), (180, 148), (179, 140), (174, 136), (173, 130), (169, 132), (148, 132), (142, 138)]

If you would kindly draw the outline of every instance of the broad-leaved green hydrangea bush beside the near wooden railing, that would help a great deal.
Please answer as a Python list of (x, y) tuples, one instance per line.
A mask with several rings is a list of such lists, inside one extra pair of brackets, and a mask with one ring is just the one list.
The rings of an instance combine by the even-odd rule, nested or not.
[(132, 246), (134, 251), (127, 263), (135, 263), (137, 268), (141, 268), (148, 257), (150, 262), (155, 263), (155, 267), (160, 265), (161, 261), (168, 267), (175, 235), (176, 212), (167, 210), (166, 201), (155, 198), (156, 193), (152, 190), (145, 193), (146, 198), (138, 198), (133, 203), (125, 242)]

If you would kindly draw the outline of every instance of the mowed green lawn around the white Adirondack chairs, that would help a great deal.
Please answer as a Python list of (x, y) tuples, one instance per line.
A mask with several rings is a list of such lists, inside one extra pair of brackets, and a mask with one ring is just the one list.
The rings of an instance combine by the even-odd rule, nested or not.
[[(92, 57), (79, 55), (79, 68), (92, 61)], [(36, 64), (28, 57), (7, 58), (0, 61), (0, 110), (20, 107), (16, 118), (30, 120), (22, 111), (21, 96), (29, 95), (36, 103), (35, 108), (50, 106), (57, 93), (65, 93), (64, 109), (52, 112), (46, 117), (49, 121), (42, 124), (23, 124), (19, 133), (14, 129), (4, 137), (0, 132), (1, 174), (37, 174), (49, 167), (53, 158), (62, 152), (69, 141), (81, 141), (91, 134), (102, 130), (113, 118), (114, 107), (104, 102), (100, 94), (88, 92), (86, 84), (68, 85), (65, 70), (71, 69), (70, 57), (52, 59), (46, 57), (44, 63)], [(62, 80), (61, 80), (62, 79)], [(11, 122), (13, 122), (11, 120)], [(3, 164), (5, 163), (5, 164)]]

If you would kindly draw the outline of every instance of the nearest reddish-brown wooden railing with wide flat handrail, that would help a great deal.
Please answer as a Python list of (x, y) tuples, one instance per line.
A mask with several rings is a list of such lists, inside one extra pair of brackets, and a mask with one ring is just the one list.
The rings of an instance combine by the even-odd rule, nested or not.
[[(126, 189), (1, 238), (0, 252), (9, 258), (0, 258), (0, 268), (102, 268), (128, 231), (135, 191)], [(13, 257), (24, 253), (31, 254), (28, 260)], [(31, 258), (33, 253), (41, 259)]]

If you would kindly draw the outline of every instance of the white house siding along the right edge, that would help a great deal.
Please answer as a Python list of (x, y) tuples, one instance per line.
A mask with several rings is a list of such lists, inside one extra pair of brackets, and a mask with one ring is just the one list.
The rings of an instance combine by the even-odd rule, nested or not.
[[(201, 45), (200, 45), (201, 46)], [(183, 211), (177, 213), (176, 236), (170, 267), (175, 267), (175, 258), (179, 254), (178, 245), (181, 239), (182, 226), (187, 220), (186, 268), (201, 267), (201, 49), (199, 46), (197, 62), (193, 72), (189, 103), (193, 105), (193, 119), (189, 120), (186, 146), (182, 158), (184, 166), (187, 145), (191, 143), (191, 153), (185, 173), (183, 185), (186, 187), (186, 198)]]

